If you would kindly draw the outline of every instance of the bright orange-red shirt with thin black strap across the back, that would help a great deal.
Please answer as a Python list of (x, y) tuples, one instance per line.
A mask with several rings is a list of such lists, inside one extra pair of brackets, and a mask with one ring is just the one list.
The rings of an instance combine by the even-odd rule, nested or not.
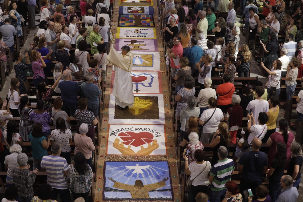
[(220, 84), (216, 89), (216, 93), (218, 94), (217, 105), (223, 106), (223, 105), (231, 104), (232, 95), (235, 92), (235, 90), (236, 88), (232, 83), (228, 82), (228, 83)]

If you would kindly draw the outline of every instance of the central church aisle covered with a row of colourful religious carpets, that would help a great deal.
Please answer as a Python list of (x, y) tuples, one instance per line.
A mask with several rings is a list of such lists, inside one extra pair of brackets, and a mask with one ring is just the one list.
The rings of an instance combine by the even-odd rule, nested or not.
[(168, 78), (156, 0), (115, 0), (115, 44), (130, 46), (134, 106), (120, 110), (107, 70), (94, 201), (180, 201)]

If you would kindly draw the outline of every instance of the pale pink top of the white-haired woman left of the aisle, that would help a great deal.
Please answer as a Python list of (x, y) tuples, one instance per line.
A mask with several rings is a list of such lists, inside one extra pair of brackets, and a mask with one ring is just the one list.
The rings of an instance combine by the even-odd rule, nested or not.
[(84, 154), (86, 159), (91, 158), (91, 151), (95, 150), (95, 146), (90, 137), (86, 135), (80, 135), (79, 133), (75, 134), (75, 154), (80, 151)]

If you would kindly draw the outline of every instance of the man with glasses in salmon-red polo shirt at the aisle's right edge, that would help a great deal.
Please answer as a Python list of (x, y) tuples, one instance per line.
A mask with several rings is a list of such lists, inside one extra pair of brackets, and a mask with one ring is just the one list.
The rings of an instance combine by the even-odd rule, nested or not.
[(179, 61), (180, 58), (183, 57), (183, 48), (180, 43), (181, 37), (176, 35), (173, 40), (174, 46), (172, 48), (167, 49), (167, 55), (170, 57), (170, 64), (171, 64), (171, 76), (174, 78), (176, 76), (177, 71), (181, 68)]

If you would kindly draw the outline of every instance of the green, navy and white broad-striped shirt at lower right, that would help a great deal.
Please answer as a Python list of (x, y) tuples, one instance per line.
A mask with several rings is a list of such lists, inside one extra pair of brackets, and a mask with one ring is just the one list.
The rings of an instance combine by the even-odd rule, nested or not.
[(212, 182), (211, 190), (212, 191), (221, 191), (225, 189), (225, 183), (230, 181), (232, 171), (235, 169), (232, 159), (218, 160), (212, 170), (210, 175), (214, 177)]

